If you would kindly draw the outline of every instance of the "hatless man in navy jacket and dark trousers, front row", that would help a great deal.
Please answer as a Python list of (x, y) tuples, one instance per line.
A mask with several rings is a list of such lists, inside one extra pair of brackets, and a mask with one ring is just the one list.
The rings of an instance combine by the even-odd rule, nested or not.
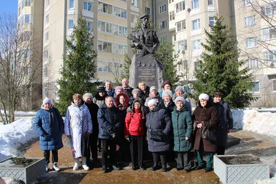
[(102, 150), (102, 171), (105, 173), (107, 170), (108, 163), (108, 146), (110, 164), (113, 170), (121, 170), (117, 167), (114, 162), (116, 141), (115, 136), (119, 136), (121, 128), (124, 126), (124, 121), (121, 118), (121, 112), (118, 108), (113, 105), (113, 97), (106, 96), (105, 103), (101, 105), (98, 111), (98, 122), (99, 122), (99, 139), (101, 139), (103, 150)]

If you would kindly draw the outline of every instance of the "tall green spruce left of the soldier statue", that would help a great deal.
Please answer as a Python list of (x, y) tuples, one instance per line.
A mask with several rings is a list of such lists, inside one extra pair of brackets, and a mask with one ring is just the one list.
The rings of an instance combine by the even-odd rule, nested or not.
[(92, 79), (96, 72), (97, 52), (92, 50), (93, 37), (86, 26), (85, 19), (78, 19), (71, 39), (72, 41), (66, 40), (67, 54), (63, 56), (65, 67), (59, 71), (61, 79), (57, 81), (60, 89), (57, 92), (59, 103), (56, 105), (63, 116), (71, 104), (73, 94), (96, 91), (96, 84), (92, 83)]

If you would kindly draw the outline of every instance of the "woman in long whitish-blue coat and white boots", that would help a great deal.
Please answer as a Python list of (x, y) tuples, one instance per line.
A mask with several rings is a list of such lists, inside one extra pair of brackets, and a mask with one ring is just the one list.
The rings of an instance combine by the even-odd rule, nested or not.
[(72, 105), (66, 112), (64, 132), (70, 140), (72, 155), (75, 159), (73, 170), (79, 169), (79, 158), (82, 159), (82, 167), (89, 170), (86, 163), (88, 154), (88, 139), (92, 133), (92, 120), (87, 106), (81, 101), (81, 94), (72, 96)]

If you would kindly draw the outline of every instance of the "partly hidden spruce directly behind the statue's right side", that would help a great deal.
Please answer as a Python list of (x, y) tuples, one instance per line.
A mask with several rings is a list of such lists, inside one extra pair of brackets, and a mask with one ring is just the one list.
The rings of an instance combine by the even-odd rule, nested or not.
[(177, 75), (176, 65), (177, 55), (173, 55), (174, 49), (172, 43), (163, 43), (159, 45), (156, 52), (164, 68), (164, 81), (170, 81), (173, 88), (175, 84), (179, 82), (179, 76)]

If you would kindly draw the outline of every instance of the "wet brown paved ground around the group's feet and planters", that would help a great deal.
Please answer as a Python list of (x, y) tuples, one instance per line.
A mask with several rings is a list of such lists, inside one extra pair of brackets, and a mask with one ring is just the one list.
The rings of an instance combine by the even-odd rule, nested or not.
[[(227, 148), (226, 154), (253, 154), (264, 163), (276, 165), (275, 140), (245, 131), (230, 134), (240, 138), (241, 143)], [(37, 183), (219, 183), (219, 178), (214, 172), (204, 173), (203, 170), (197, 170), (184, 173), (184, 171), (177, 172), (175, 168), (166, 173), (161, 172), (161, 170), (151, 172), (152, 163), (144, 163), (147, 168), (146, 171), (132, 171), (131, 167), (124, 167), (124, 170), (103, 174), (100, 164), (97, 164), (92, 170), (73, 172), (74, 163), (66, 136), (63, 136), (63, 142), (65, 146), (59, 150), (61, 172), (50, 171), (38, 178)], [(26, 150), (26, 156), (43, 156), (39, 149), (39, 141)]]

